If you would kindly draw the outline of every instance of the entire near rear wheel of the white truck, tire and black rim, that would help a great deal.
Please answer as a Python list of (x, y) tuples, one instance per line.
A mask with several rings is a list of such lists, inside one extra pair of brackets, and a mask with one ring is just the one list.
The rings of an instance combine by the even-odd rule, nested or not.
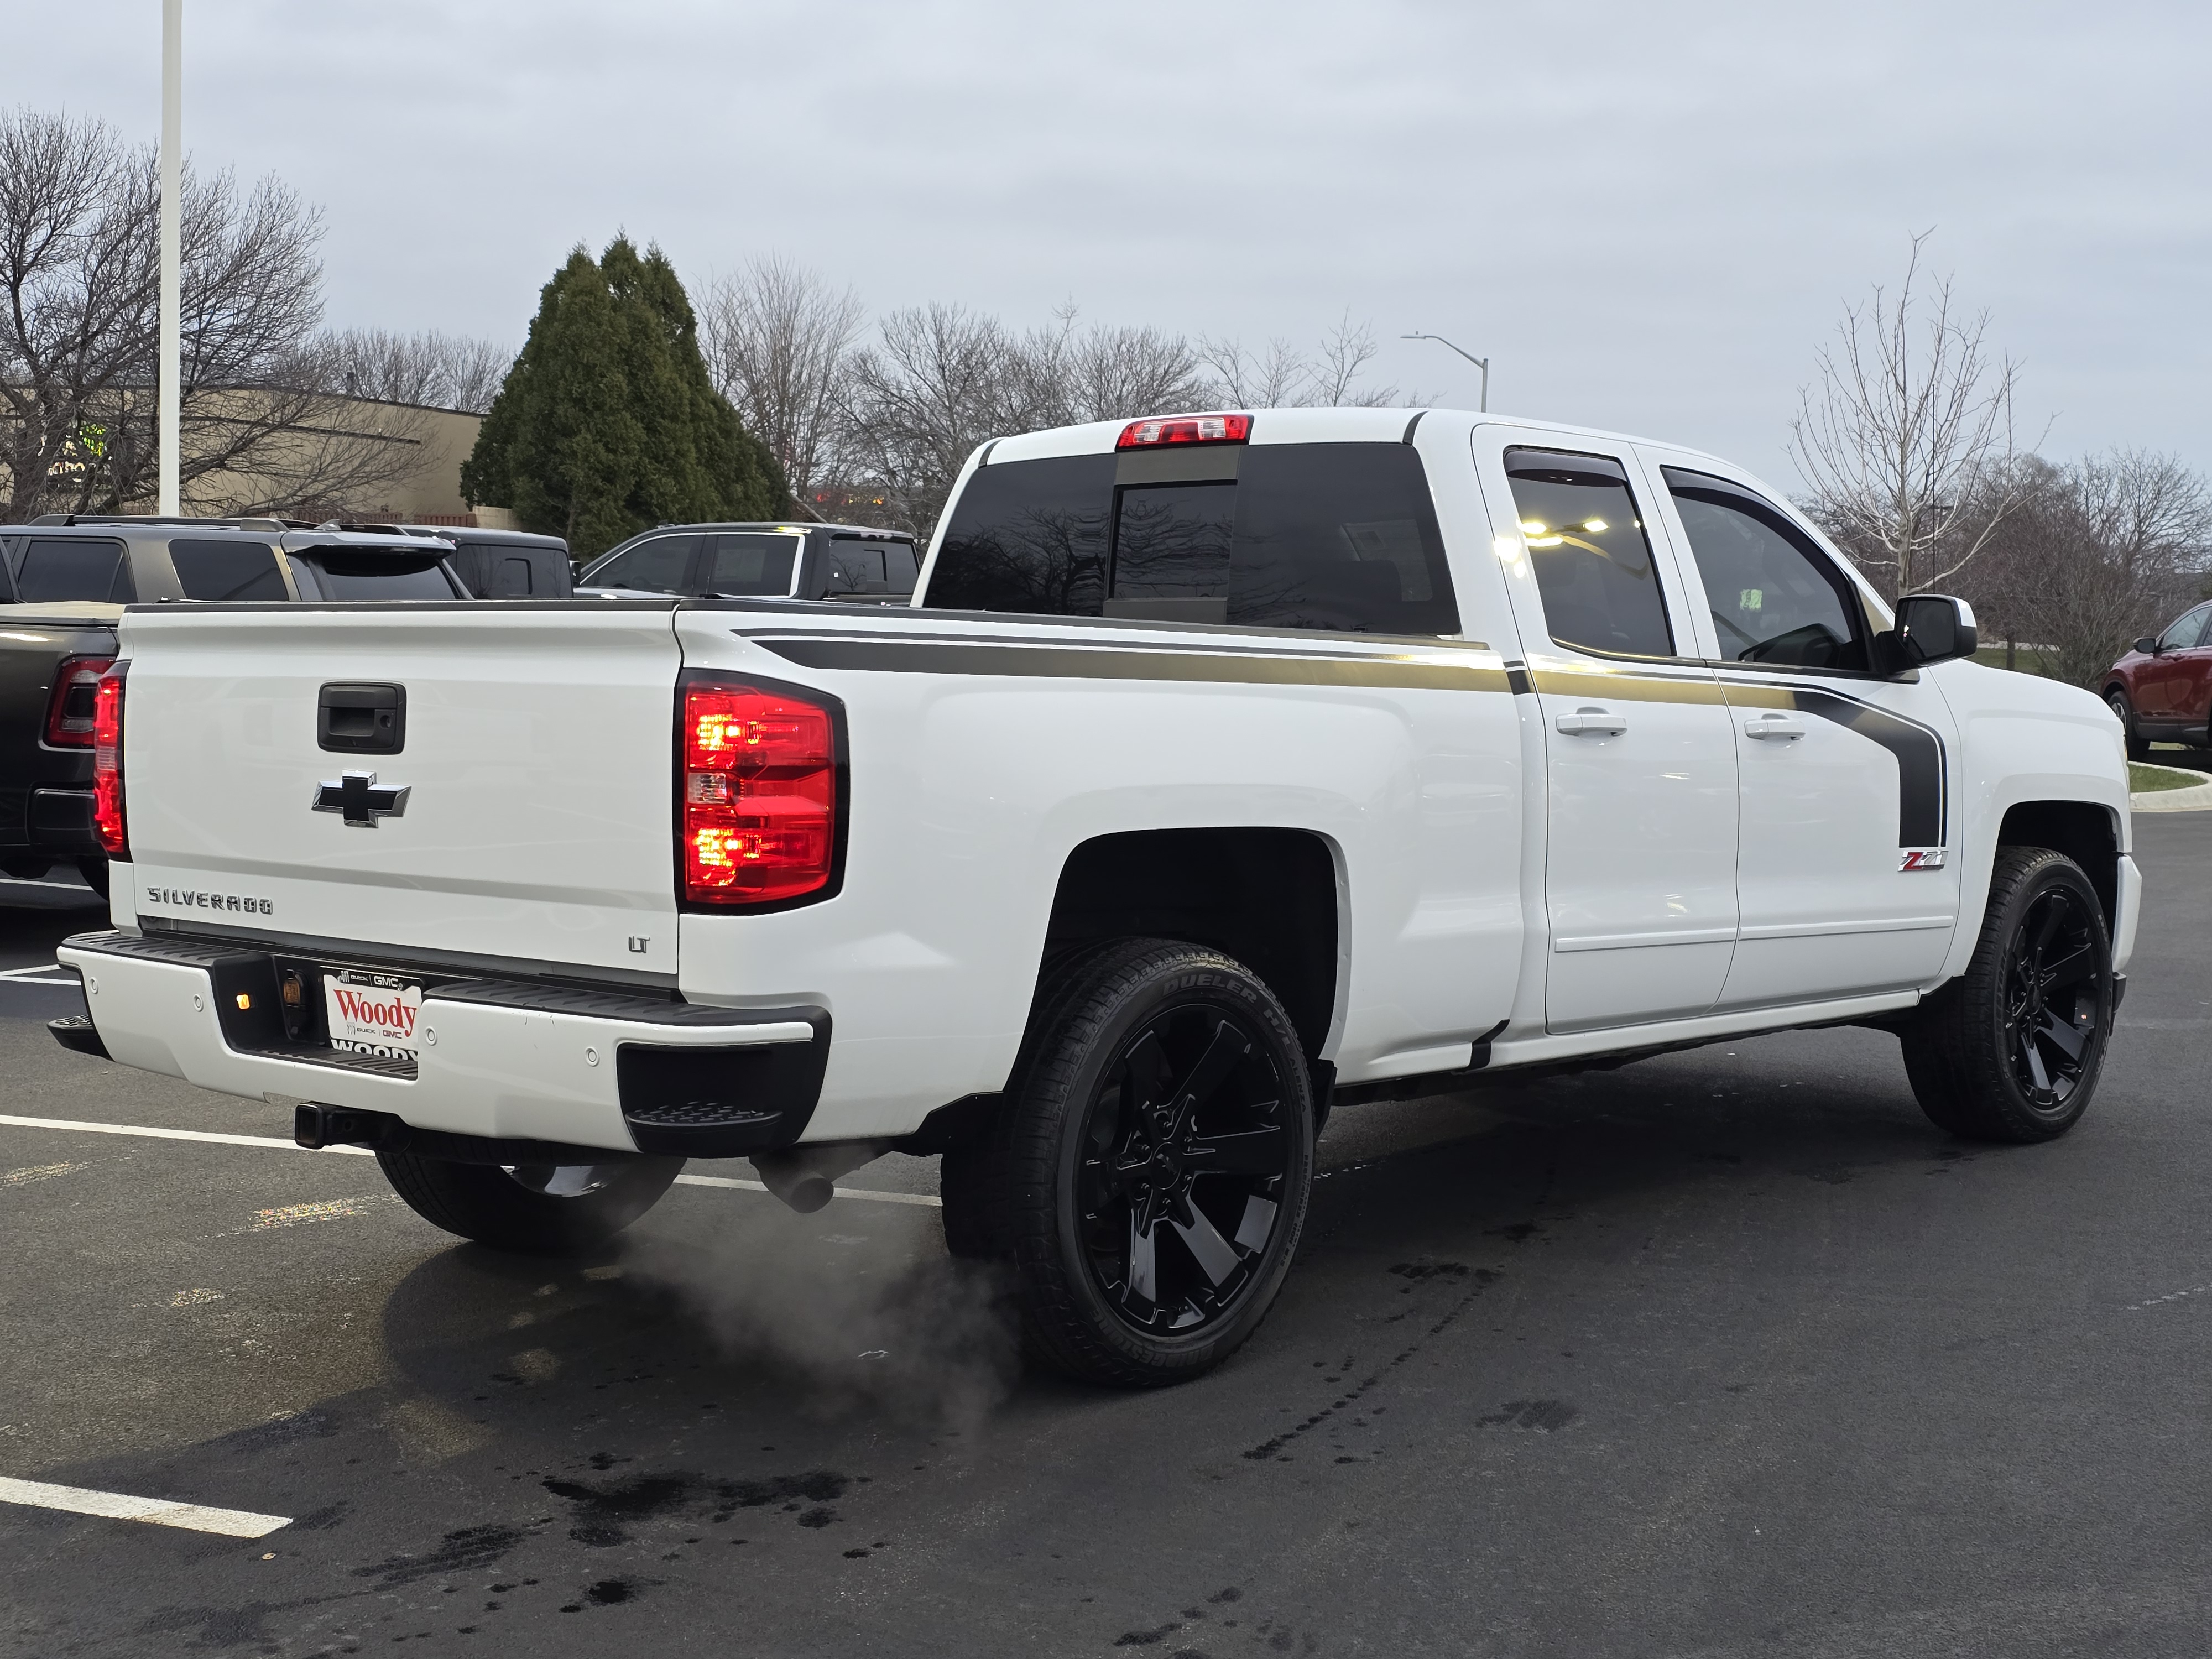
[(1161, 1387), (1267, 1316), (1312, 1181), (1312, 1077), (1274, 993), (1219, 951), (1117, 940), (1040, 989), (998, 1121), (947, 1155), (945, 1234), (1011, 1263), (1033, 1356)]

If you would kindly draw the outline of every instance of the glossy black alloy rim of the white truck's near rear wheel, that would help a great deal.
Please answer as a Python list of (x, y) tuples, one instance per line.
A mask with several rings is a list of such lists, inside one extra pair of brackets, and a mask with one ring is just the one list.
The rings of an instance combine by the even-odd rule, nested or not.
[(1219, 1002), (1170, 1004), (1106, 1062), (1075, 1201), (1084, 1256), (1135, 1332), (1228, 1318), (1252, 1287), (1292, 1172), (1283, 1077)]

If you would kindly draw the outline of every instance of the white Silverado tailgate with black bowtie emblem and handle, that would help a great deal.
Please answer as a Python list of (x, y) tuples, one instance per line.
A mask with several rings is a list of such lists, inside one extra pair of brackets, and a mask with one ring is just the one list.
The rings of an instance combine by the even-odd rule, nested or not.
[[(122, 653), (117, 920), (675, 973), (666, 608), (133, 611)], [(325, 748), (327, 686), (400, 688), (398, 752)]]

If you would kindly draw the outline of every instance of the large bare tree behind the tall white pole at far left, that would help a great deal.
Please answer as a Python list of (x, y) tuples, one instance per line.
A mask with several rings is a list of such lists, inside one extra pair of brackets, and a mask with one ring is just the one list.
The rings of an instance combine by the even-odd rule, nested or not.
[[(0, 113), (4, 511), (117, 509), (155, 487), (159, 173), (102, 122)], [(276, 179), (184, 175), (179, 476), (195, 507), (374, 495), (422, 465), (405, 420), (325, 392), (321, 217)], [(268, 498), (268, 500), (263, 500)]]

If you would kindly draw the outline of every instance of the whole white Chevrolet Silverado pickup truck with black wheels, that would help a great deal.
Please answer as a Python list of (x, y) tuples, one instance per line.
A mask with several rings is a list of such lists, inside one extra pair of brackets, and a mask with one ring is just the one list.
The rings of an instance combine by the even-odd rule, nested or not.
[(55, 1035), (507, 1248), (942, 1152), (1031, 1347), (1166, 1383), (1332, 1099), (1876, 1024), (1940, 1126), (2073, 1126), (2121, 737), (1971, 650), (1728, 462), (1444, 409), (984, 445), (911, 611), (133, 608)]

